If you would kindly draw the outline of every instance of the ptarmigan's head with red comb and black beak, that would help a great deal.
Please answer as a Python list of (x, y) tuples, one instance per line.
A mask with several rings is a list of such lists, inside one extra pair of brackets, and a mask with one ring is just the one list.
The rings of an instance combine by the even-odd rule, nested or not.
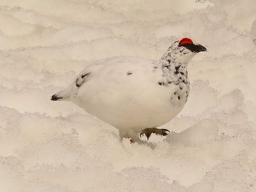
[(194, 44), (192, 39), (183, 38), (180, 41), (173, 42), (162, 59), (188, 63), (189, 60), (199, 52), (206, 51), (206, 47), (200, 44)]

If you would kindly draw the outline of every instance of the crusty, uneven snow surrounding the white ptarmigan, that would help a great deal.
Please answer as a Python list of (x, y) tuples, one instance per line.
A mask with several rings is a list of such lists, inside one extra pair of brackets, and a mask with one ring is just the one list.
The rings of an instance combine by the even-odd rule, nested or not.
[[(0, 1), (0, 191), (256, 191), (256, 2)], [(92, 61), (190, 37), (184, 110), (150, 145), (53, 102)], [(144, 138), (145, 139), (145, 138)]]

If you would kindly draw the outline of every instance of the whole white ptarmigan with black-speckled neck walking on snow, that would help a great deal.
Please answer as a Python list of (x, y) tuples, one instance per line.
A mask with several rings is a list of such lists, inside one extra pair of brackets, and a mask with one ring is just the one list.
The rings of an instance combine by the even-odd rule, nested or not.
[(157, 126), (181, 112), (189, 96), (187, 64), (206, 47), (184, 38), (173, 42), (159, 61), (115, 57), (87, 66), (51, 100), (69, 100), (118, 128), (120, 137), (166, 135)]

